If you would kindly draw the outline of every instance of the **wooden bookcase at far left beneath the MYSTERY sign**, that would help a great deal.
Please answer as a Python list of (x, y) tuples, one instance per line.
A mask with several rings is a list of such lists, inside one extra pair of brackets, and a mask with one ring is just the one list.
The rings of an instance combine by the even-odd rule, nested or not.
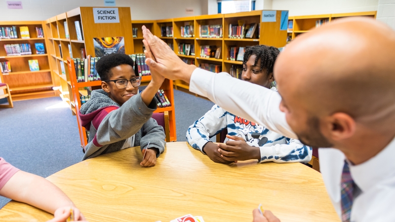
[[(0, 27), (16, 26), (18, 38), (0, 39), (0, 61), (9, 61), (11, 73), (1, 74), (1, 79), (10, 87), (12, 99), (14, 101), (45, 98), (57, 96), (57, 92), (52, 89), (56, 85), (52, 76), (51, 58), (48, 52), (48, 42), (46, 37), (50, 35), (45, 29), (43, 21), (12, 21), (0, 22)], [(21, 38), (19, 27), (29, 28), (30, 38)], [(38, 37), (36, 27), (42, 28), (44, 37)], [(7, 56), (4, 49), (5, 44), (29, 43), (32, 55)], [(35, 43), (44, 43), (45, 54), (37, 54)], [(30, 71), (29, 60), (38, 60), (40, 71)]]

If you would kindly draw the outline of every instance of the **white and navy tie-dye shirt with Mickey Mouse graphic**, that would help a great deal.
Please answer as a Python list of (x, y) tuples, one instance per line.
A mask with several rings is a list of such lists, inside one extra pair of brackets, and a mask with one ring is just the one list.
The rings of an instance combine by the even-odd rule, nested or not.
[[(259, 147), (261, 163), (309, 162), (312, 158), (313, 149), (299, 140), (286, 138), (266, 127), (235, 116), (217, 105), (189, 127), (188, 143), (202, 151), (204, 145), (210, 141), (209, 138), (225, 128), (228, 128), (229, 135), (243, 138), (251, 147)], [(225, 142), (227, 140), (228, 138)]]

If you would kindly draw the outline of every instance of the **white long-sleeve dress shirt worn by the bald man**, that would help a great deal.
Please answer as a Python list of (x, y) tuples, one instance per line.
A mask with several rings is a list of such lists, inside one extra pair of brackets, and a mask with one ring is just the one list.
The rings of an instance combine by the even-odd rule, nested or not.
[[(264, 125), (286, 137), (296, 139), (279, 110), (281, 97), (262, 86), (231, 77), (196, 69), (190, 91), (209, 98), (235, 115)], [(341, 175), (345, 155), (335, 148), (319, 148), (319, 165), (326, 190), (341, 216)], [(360, 192), (354, 196), (352, 222), (395, 221), (395, 138), (376, 156), (364, 163), (350, 165), (350, 172)]]

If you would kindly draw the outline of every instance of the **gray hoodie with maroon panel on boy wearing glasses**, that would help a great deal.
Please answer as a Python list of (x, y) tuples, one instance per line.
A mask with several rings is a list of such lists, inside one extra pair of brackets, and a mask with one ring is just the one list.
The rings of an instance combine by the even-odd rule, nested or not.
[(126, 139), (135, 136), (134, 146), (164, 151), (165, 134), (157, 121), (151, 118), (157, 109), (155, 100), (147, 107), (141, 95), (132, 96), (122, 106), (103, 90), (93, 90), (91, 98), (81, 106), (81, 125), (89, 130), (88, 145), (82, 160), (120, 150)]

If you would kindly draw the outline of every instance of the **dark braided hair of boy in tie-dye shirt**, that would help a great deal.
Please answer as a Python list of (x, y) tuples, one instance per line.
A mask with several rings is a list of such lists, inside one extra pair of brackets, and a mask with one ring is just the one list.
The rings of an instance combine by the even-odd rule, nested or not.
[(267, 45), (255, 45), (247, 48), (247, 50), (245, 51), (243, 65), (247, 62), (248, 58), (251, 55), (255, 55), (256, 58), (254, 66), (256, 66), (258, 60), (261, 59), (260, 71), (262, 71), (263, 68), (266, 68), (267, 73), (270, 74), (273, 73), (273, 67), (279, 53), (280, 51), (276, 47)]

